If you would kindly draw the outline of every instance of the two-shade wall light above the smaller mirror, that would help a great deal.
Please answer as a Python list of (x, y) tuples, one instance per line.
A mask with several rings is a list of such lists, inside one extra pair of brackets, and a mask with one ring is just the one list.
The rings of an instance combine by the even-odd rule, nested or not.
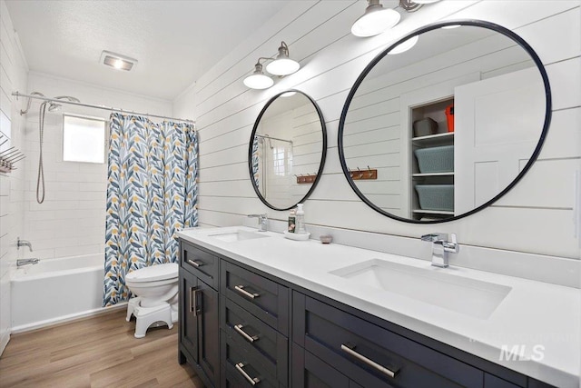
[(272, 78), (265, 75), (262, 71), (261, 61), (271, 61), (270, 64), (266, 65), (266, 71), (271, 75), (291, 75), (300, 69), (300, 64), (289, 57), (289, 46), (286, 43), (281, 42), (281, 45), (279, 46), (279, 55), (277, 55), (276, 58), (261, 56), (258, 58), (256, 65), (254, 65), (254, 72), (244, 78), (244, 85), (251, 89), (267, 89), (274, 85)]

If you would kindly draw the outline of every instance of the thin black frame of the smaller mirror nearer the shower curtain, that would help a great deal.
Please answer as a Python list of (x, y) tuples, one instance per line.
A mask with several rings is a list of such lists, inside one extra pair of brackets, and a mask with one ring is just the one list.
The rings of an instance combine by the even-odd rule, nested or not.
[[(261, 122), (261, 118), (262, 115), (264, 115), (264, 113), (266, 112), (266, 110), (269, 108), (269, 106), (281, 95), (290, 93), (290, 92), (295, 92), (295, 93), (300, 93), (301, 95), (304, 95), (305, 97), (307, 97), (310, 101), (311, 104), (313, 104), (313, 106), (315, 107), (315, 110), (317, 111), (317, 114), (319, 115), (319, 121), (320, 121), (320, 129), (322, 131), (322, 150), (321, 150), (321, 155), (320, 155), (320, 164), (319, 164), (319, 171), (317, 171), (317, 177), (315, 178), (315, 181), (312, 183), (312, 185), (310, 186), (309, 191), (307, 192), (307, 194), (305, 194), (298, 203), (293, 204), (289, 207), (285, 207), (285, 208), (279, 208), (279, 207), (275, 207), (272, 204), (269, 204), (269, 202), (266, 200), (266, 198), (264, 198), (259, 190), (259, 188), (257, 187), (257, 185), (254, 183), (254, 179), (253, 174), (252, 174), (252, 142), (254, 139), (254, 134), (256, 134), (256, 129), (258, 128), (258, 124)], [(291, 210), (293, 207), (295, 207), (297, 204), (302, 204), (304, 203), (307, 198), (309, 198), (310, 194), (313, 192), (313, 190), (315, 189), (315, 187), (317, 186), (317, 184), (320, 181), (320, 177), (322, 175), (323, 172), (323, 168), (325, 167), (325, 160), (327, 158), (327, 127), (325, 125), (325, 119), (323, 118), (323, 114), (320, 112), (320, 107), (319, 104), (317, 104), (315, 102), (315, 100), (313, 100), (310, 95), (307, 95), (304, 92), (301, 92), (300, 90), (297, 89), (288, 89), (285, 91), (282, 91), (281, 93), (277, 94), (277, 95), (273, 95), (271, 97), (271, 99), (269, 101), (267, 101), (267, 103), (264, 105), (264, 107), (261, 110), (261, 113), (258, 115), (258, 117), (256, 118), (256, 121), (254, 122), (254, 126), (252, 127), (252, 133), (251, 133), (251, 139), (249, 142), (249, 147), (248, 147), (248, 172), (251, 176), (251, 183), (252, 183), (252, 188), (254, 188), (254, 192), (256, 193), (256, 195), (258, 195), (258, 197), (261, 199), (262, 204), (267, 205), (268, 207), (270, 207), (272, 210), (280, 210), (280, 211), (285, 211), (285, 210)]]

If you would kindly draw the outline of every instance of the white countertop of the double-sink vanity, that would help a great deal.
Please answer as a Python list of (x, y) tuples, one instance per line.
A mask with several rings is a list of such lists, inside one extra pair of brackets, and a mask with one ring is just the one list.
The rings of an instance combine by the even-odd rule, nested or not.
[[(448, 343), (527, 376), (557, 387), (579, 387), (581, 367), (581, 290), (501, 274), (450, 266), (432, 267), (429, 262), (319, 241), (291, 241), (282, 234), (270, 238), (224, 242), (210, 234), (244, 226), (185, 229), (184, 240), (250, 265), (292, 284), (353, 306), (391, 323)], [(386, 260), (443, 271), (511, 287), (507, 297), (487, 319), (456, 313), (432, 304), (389, 293), (366, 284), (329, 274), (369, 259)], [(463, 295), (458, 294), (458, 298)], [(518, 346), (520, 360), (500, 360), (501, 351)]]

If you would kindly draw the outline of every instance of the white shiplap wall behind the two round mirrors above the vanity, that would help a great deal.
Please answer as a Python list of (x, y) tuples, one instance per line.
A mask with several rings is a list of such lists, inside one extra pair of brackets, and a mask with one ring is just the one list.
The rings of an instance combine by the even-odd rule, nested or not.
[[(246, 159), (252, 124), (262, 105), (271, 95), (297, 88), (320, 104), (329, 132), (324, 175), (305, 204), (308, 224), (409, 237), (437, 229), (457, 233), (460, 244), (579, 259), (571, 221), (573, 174), (581, 157), (579, 1), (498, 4), (441, 1), (404, 14), (387, 34), (361, 39), (350, 35), (350, 25), (362, 14), (364, 2), (292, 2), (174, 102), (174, 113), (196, 119), (200, 131), (201, 224), (241, 224), (245, 214), (261, 212), (286, 219), (286, 212), (273, 212), (255, 197)], [(393, 221), (361, 203), (340, 170), (337, 132), (342, 105), (350, 86), (380, 50), (420, 25), (457, 18), (504, 25), (527, 40), (547, 67), (553, 121), (537, 163), (494, 206), (437, 226)], [(291, 56), (300, 59), (300, 71), (266, 91), (245, 88), (241, 81), (256, 58), (275, 54), (281, 40), (290, 45)]]

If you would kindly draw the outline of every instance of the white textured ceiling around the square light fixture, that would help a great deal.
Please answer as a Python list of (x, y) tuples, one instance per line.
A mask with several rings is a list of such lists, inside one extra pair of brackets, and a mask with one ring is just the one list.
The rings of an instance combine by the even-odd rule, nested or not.
[[(168, 100), (288, 3), (6, 0), (32, 71)], [(108, 68), (103, 50), (139, 63)]]

